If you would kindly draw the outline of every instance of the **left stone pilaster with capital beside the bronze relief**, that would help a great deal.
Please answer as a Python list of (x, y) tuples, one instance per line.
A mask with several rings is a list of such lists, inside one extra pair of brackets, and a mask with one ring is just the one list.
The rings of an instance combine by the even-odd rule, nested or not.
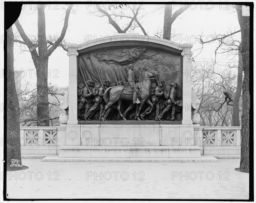
[(67, 46), (69, 56), (69, 119), (67, 124), (78, 124), (77, 120), (77, 44)]

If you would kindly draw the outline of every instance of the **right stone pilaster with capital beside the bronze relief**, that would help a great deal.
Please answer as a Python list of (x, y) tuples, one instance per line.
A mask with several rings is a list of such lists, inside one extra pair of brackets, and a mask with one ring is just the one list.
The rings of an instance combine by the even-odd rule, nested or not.
[(192, 124), (191, 120), (191, 64), (190, 57), (192, 56), (192, 44), (182, 44), (183, 51), (183, 110), (182, 110), (182, 124)]

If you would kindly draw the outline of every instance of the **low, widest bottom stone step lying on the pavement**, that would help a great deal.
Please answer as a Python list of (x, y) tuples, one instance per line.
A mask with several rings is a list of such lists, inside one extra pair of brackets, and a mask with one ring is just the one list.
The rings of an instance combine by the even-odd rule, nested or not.
[(200, 158), (61, 158), (57, 155), (41, 159), (42, 162), (218, 162), (209, 155)]

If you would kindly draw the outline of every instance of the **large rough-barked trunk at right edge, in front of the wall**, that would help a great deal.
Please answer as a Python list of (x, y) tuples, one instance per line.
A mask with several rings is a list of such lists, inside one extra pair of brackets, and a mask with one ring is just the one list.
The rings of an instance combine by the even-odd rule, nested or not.
[(243, 61), (244, 81), (242, 88), (242, 126), (240, 170), (249, 173), (249, 136), (250, 136), (250, 16), (242, 16), (242, 6), (236, 5), (238, 21), (241, 27), (241, 56)]

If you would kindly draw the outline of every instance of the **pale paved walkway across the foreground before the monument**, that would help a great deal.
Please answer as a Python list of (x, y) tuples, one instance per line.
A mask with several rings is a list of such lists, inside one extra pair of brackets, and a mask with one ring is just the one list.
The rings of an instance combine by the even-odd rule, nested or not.
[(8, 172), (10, 198), (241, 199), (249, 197), (249, 174), (239, 159), (197, 163), (41, 162)]

